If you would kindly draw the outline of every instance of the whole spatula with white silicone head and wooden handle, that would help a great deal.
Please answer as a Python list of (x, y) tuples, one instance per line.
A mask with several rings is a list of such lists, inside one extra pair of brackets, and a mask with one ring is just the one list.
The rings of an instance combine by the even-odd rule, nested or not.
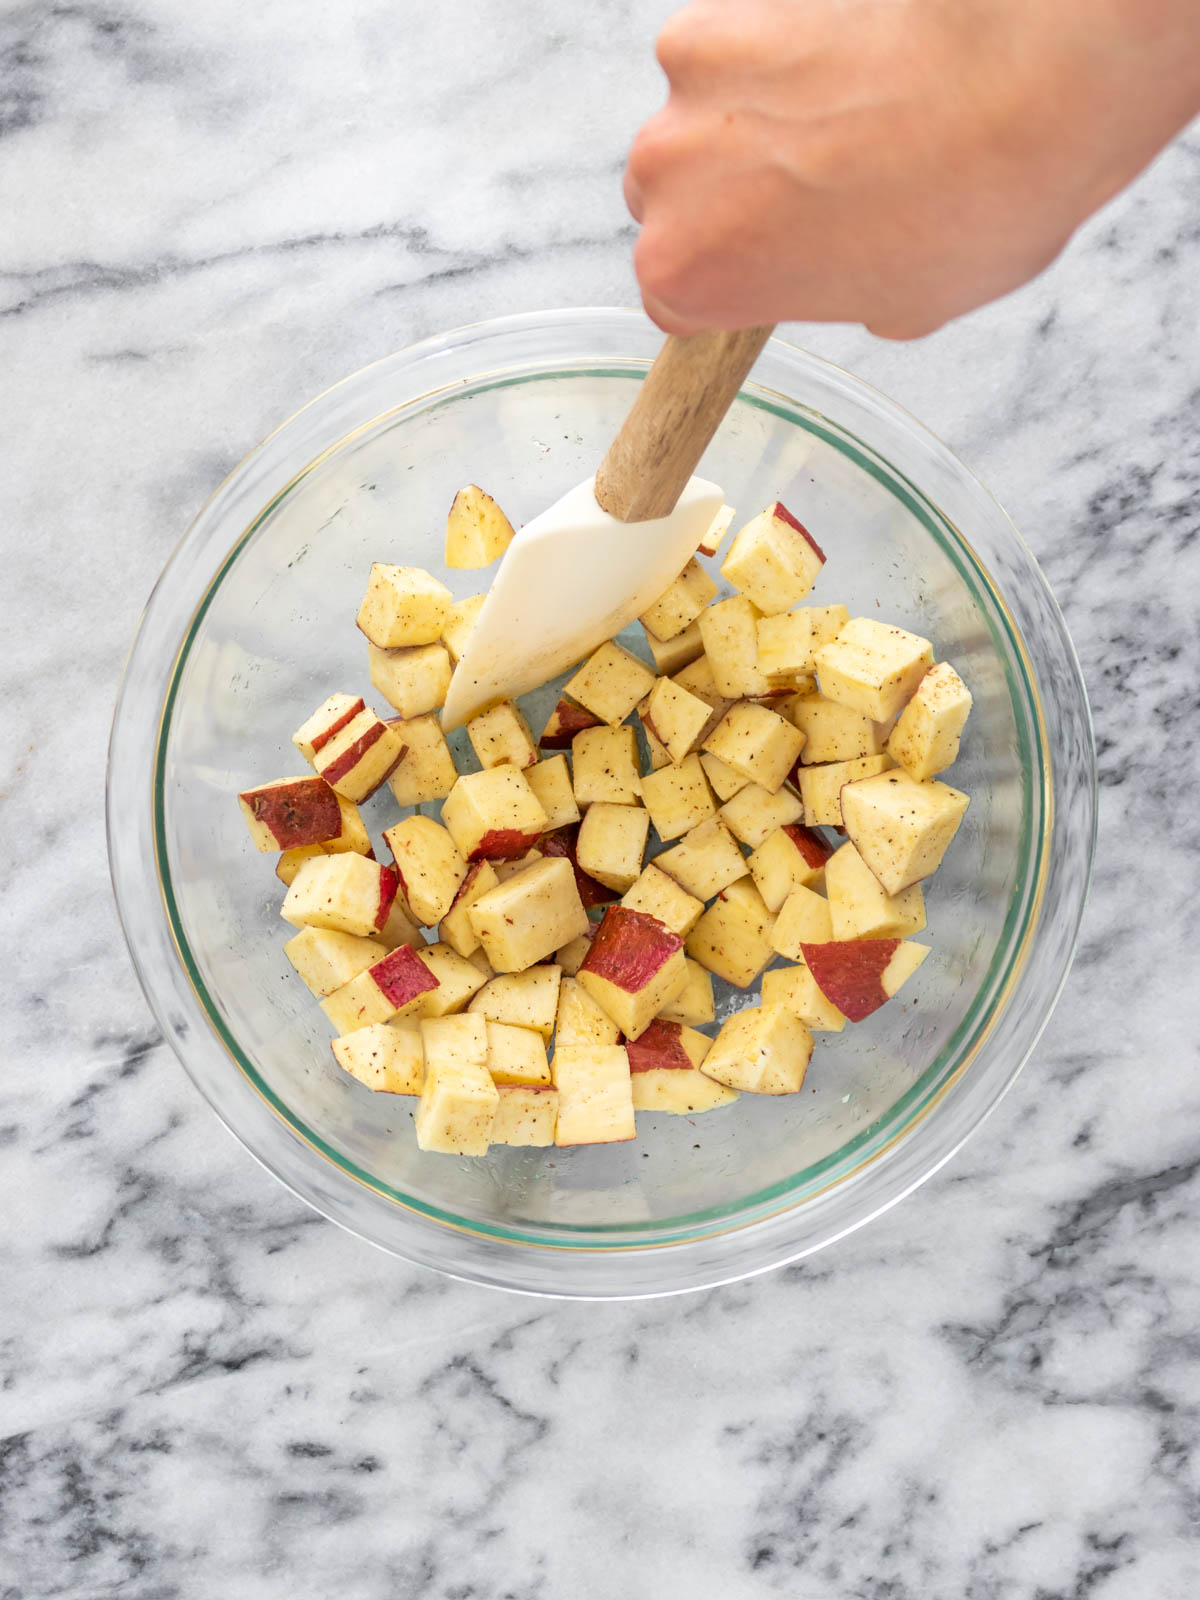
[(515, 534), (450, 682), (450, 731), (565, 672), (640, 616), (722, 507), (691, 470), (770, 328), (670, 336), (594, 478)]

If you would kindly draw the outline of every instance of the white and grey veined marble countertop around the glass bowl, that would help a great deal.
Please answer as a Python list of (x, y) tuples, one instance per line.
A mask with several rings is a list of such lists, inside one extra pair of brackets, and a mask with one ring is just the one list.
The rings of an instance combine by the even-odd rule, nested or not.
[(789, 331), (997, 491), (1098, 723), (1074, 976), (909, 1202), (685, 1299), (456, 1285), (261, 1171), (133, 979), (104, 747), (162, 563), (344, 373), (634, 301), (667, 10), (0, 13), (3, 1600), (1200, 1590), (1200, 131), (922, 344)]

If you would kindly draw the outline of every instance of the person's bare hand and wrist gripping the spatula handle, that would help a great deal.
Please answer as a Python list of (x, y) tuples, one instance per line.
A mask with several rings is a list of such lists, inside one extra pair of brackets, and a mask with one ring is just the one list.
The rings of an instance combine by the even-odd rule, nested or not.
[(917, 338), (1024, 283), (1200, 110), (1195, 0), (691, 0), (629, 157), (670, 333)]

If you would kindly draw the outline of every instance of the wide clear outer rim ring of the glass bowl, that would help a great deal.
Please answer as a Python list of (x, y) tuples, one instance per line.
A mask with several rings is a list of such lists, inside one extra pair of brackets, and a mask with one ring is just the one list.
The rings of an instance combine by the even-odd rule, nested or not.
[[(376, 1186), (355, 1178), (334, 1157), (322, 1154), (320, 1141), (286, 1120), (286, 1109), (274, 1096), (250, 1082), (245, 1064), (218, 1037), (213, 1016), (203, 1006), (187, 976), (187, 962), (171, 930), (163, 878), (158, 870), (155, 838), (157, 755), (165, 741), (163, 712), (168, 707), (184, 642), (198, 611), (219, 586), (230, 549), (242, 546), (246, 530), (262, 514), (264, 498), (274, 502), (286, 493), (296, 477), (315, 459), (336, 451), (347, 435), (347, 422), (360, 418), (358, 395), (371, 384), (386, 384), (395, 392), (389, 411), (419, 406), (430, 395), (475, 389), (483, 379), (504, 373), (538, 373), (563, 368), (590, 368), (600, 363), (611, 371), (643, 368), (653, 357), (658, 334), (640, 314), (594, 309), (541, 312), (494, 318), (421, 341), (395, 355), (350, 374), (333, 389), (315, 397), (293, 418), (270, 434), (234, 469), (197, 515), (166, 563), (134, 637), (114, 718), (109, 763), (109, 850), (118, 912), (134, 966), (147, 1000), (171, 1040), (189, 1075), (213, 1104), (234, 1134), (269, 1171), (307, 1203), (349, 1227), (360, 1237), (395, 1254), (434, 1266), (440, 1270), (531, 1293), (568, 1296), (646, 1296), (675, 1293), (728, 1282), (768, 1270), (784, 1261), (798, 1259), (822, 1248), (834, 1238), (862, 1226), (869, 1218), (894, 1205), (904, 1194), (931, 1176), (958, 1149), (970, 1131), (994, 1109), (1011, 1086), (1032, 1051), (1070, 965), (1094, 851), (1094, 746), (1082, 675), (1070, 646), (1066, 624), (1011, 522), (966, 467), (928, 429), (910, 418), (894, 402), (803, 350), (773, 339), (766, 357), (773, 365), (773, 386), (758, 381), (760, 363), (750, 390), (784, 402), (790, 410), (813, 413), (803, 398), (806, 389), (832, 394), (842, 410), (830, 413), (832, 426), (850, 432), (843, 418), (848, 406), (856, 421), (880, 427), (915, 446), (925, 461), (936, 462), (939, 477), (965, 494), (976, 515), (990, 517), (990, 531), (1008, 539), (1016, 554), (1019, 589), (1034, 614), (1037, 632), (1030, 640), (1019, 626), (1019, 605), (1011, 587), (1005, 597), (990, 581), (987, 568), (955, 523), (944, 517), (915, 483), (915, 494), (933, 506), (942, 523), (950, 526), (968, 552), (986, 587), (1008, 618), (1008, 626), (1022, 653), (1034, 686), (1035, 714), (1045, 755), (1045, 805), (1040, 838), (1040, 883), (1026, 938), (1008, 981), (978, 1030), (966, 1059), (930, 1096), (917, 1117), (899, 1128), (848, 1178), (798, 1205), (739, 1216), (726, 1226), (685, 1237), (627, 1238), (606, 1230), (600, 1240), (566, 1240), (552, 1243), (522, 1238), (504, 1229), (472, 1229), (413, 1210), (387, 1198)], [(549, 350), (554, 350), (549, 355)], [(568, 352), (570, 354), (568, 357)], [(582, 352), (582, 354), (581, 354)], [(549, 358), (547, 358), (549, 355)], [(781, 384), (781, 378), (784, 382)], [(786, 387), (784, 387), (786, 384)], [(358, 406), (358, 411), (355, 411)], [(773, 406), (774, 410), (774, 406)], [(349, 432), (374, 426), (376, 418), (358, 419)], [(893, 464), (893, 454), (878, 443), (859, 443), (870, 454), (883, 456), (886, 467), (904, 480)], [(283, 486), (280, 486), (280, 483)], [(256, 501), (258, 496), (258, 501)], [(229, 541), (229, 512), (243, 507), (243, 531)], [(245, 507), (256, 507), (246, 517)], [(235, 515), (234, 525), (238, 525)], [(216, 539), (216, 542), (214, 542)], [(1006, 552), (1006, 554), (1013, 554)], [(190, 614), (189, 614), (190, 613)], [(1050, 632), (1046, 629), (1050, 627)], [(163, 653), (163, 642), (170, 651)], [(1053, 645), (1053, 648), (1042, 648)], [(1038, 661), (1038, 654), (1043, 658)], [(1042, 670), (1038, 670), (1042, 667)], [(1046, 722), (1038, 698), (1038, 682), (1054, 683), (1056, 712)], [(147, 715), (149, 714), (149, 715)], [(1056, 750), (1054, 733), (1066, 723), (1072, 734), (1067, 749)], [(149, 739), (147, 739), (149, 731)], [(1061, 790), (1067, 786), (1069, 794)], [(147, 795), (149, 789), (149, 795)], [(1062, 805), (1067, 800), (1067, 806)], [(1058, 803), (1056, 803), (1058, 802)], [(1069, 859), (1074, 870), (1056, 870), (1059, 861), (1053, 835), (1061, 829), (1064, 811), (1072, 822), (1074, 838), (1083, 840)], [(133, 819), (133, 826), (131, 821)], [(1067, 859), (1067, 853), (1064, 853)], [(157, 896), (147, 896), (146, 869), (157, 885)], [(1038, 950), (1037, 1003), (1013, 1011), (1011, 1000), (1029, 971), (1046, 926), (1046, 910), (1053, 910), (1056, 938)], [(1013, 1019), (1019, 1026), (1013, 1027)], [(1006, 1018), (1008, 1034), (1003, 1051), (997, 1048), (997, 1022)], [(992, 1037), (989, 1037), (992, 1035)], [(237, 1062), (237, 1064), (235, 1064)], [(970, 1070), (966, 1066), (970, 1064)], [(240, 1066), (240, 1070), (238, 1070)], [(262, 1112), (267, 1112), (264, 1117)], [(382, 1210), (381, 1210), (382, 1208)]]

